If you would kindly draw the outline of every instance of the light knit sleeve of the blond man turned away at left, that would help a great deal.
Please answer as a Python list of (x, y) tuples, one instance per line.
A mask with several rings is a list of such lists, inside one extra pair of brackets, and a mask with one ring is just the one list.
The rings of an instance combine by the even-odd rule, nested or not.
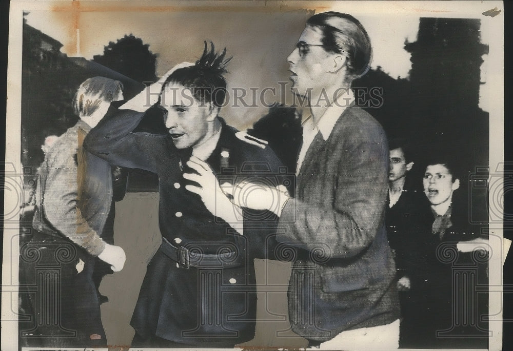
[[(72, 146), (71, 146), (72, 148)], [(56, 151), (58, 152), (58, 151)], [(105, 242), (90, 228), (78, 208), (78, 166), (74, 155), (62, 150), (50, 163), (44, 193), (45, 213), (48, 221), (88, 253), (98, 256)]]

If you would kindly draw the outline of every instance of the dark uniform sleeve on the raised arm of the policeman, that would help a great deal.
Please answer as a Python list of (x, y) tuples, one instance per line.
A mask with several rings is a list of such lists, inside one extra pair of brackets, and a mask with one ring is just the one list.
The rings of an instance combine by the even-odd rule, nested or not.
[(143, 112), (111, 108), (84, 140), (90, 153), (116, 166), (156, 172), (155, 147), (164, 136), (132, 133), (144, 117)]

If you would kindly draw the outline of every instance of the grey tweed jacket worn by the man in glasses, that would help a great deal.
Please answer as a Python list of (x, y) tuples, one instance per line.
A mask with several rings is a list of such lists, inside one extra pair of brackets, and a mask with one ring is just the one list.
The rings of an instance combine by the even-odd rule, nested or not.
[(295, 333), (326, 341), (399, 318), (384, 223), (387, 174), (385, 133), (362, 109), (347, 108), (327, 140), (315, 136), (277, 237), (298, 248), (288, 293)]

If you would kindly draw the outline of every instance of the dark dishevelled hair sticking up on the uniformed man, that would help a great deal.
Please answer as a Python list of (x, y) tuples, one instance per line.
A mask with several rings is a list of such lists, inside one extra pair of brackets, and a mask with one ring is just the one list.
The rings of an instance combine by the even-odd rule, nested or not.
[(181, 84), (190, 89), (192, 95), (200, 102), (222, 107), (226, 98), (226, 80), (223, 73), (228, 72), (226, 65), (231, 57), (225, 59), (226, 48), (221, 54), (216, 54), (212, 42), (210, 47), (209, 51), (205, 42), (203, 55), (195, 65), (177, 69), (166, 79), (166, 83)]

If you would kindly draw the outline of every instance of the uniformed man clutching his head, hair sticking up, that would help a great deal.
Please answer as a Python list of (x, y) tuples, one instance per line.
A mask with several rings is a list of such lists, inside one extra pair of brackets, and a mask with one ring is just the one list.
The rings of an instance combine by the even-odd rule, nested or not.
[[(282, 164), (258, 139), (218, 116), (226, 96), (225, 52), (205, 51), (146, 88), (87, 136), (91, 153), (112, 164), (159, 176), (160, 249), (147, 267), (131, 325), (133, 345), (233, 347), (254, 337), (254, 258), (269, 258), (274, 214), (233, 205), (219, 185), (195, 184), (193, 160), (208, 164), (221, 184), (245, 179), (280, 185)], [(159, 89), (155, 94), (152, 89)], [(149, 101), (148, 99), (153, 99)], [(155, 101), (156, 100), (156, 101)], [(152, 105), (164, 114), (167, 135), (133, 133)], [(190, 159), (190, 160), (189, 160)], [(202, 184), (205, 185), (205, 184)], [(215, 215), (214, 215), (214, 214)]]

